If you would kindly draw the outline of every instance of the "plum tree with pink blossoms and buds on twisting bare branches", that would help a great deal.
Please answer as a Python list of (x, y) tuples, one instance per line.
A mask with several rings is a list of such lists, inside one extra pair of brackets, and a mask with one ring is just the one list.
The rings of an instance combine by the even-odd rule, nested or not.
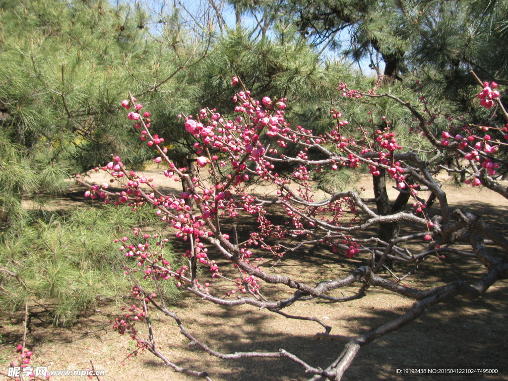
[[(300, 365), (311, 375), (311, 380), (339, 380), (362, 346), (415, 320), (430, 306), (454, 297), (474, 299), (483, 295), (508, 274), (508, 257), (504, 254), (508, 240), (504, 232), (488, 226), (481, 216), (452, 210), (451, 200), (435, 178), (441, 171), (460, 173), (466, 184), (485, 186), (508, 198), (506, 188), (497, 181), (507, 165), (500, 147), (506, 145), (508, 138), (508, 114), (499, 98), (497, 84), (482, 82), (478, 77), (476, 80), (482, 87), (478, 94), (479, 107), (491, 113), (484, 123), (471, 123), (462, 116), (436, 115), (429, 111), (431, 106), (425, 97), (421, 97), (421, 104), (414, 105), (391, 93), (378, 92), (377, 86), (363, 92), (339, 84), (339, 91), (352, 102), (386, 99), (408, 110), (414, 117), (411, 132), (424, 137), (432, 147), (416, 151), (414, 147), (400, 144), (386, 116), (378, 123), (372, 121), (372, 128), (365, 128), (352, 125), (340, 111), (333, 110), (327, 132), (314, 134), (304, 126), (293, 126), (285, 116), (285, 99), (253, 99), (242, 81), (234, 77), (233, 85), (241, 89), (233, 97), (233, 115), (209, 108), (202, 108), (194, 116), (181, 115), (185, 131), (193, 137), (199, 155), (193, 172), (169, 159), (165, 140), (152, 132), (143, 105), (132, 96), (125, 100), (123, 107), (136, 109), (130, 110), (128, 117), (135, 120), (141, 140), (155, 149), (155, 163), (166, 163), (165, 176), (181, 181), (184, 192), (163, 194), (152, 179), (128, 169), (119, 156), (113, 156), (110, 163), (96, 169), (112, 176), (121, 187), (118, 192), (89, 184), (80, 176), (76, 181), (89, 188), (86, 197), (115, 205), (128, 204), (134, 210), (151, 205), (172, 226), (176, 237), (186, 243), (187, 249), (182, 253), (186, 264), (175, 267), (165, 258), (166, 241), (158, 234), (152, 237), (133, 228), (131, 236), (119, 241), (125, 274), (132, 281), (132, 294), (137, 301), (113, 322), (114, 328), (136, 341), (134, 352), (147, 350), (176, 371), (205, 379), (211, 379), (206, 369), (180, 367), (156, 345), (149, 319), (152, 309), (171, 317), (180, 333), (203, 353), (220, 359), (283, 358)], [(441, 131), (436, 133), (438, 130)], [(282, 149), (288, 145), (296, 145), (300, 150), (289, 155)], [(281, 165), (290, 168), (289, 172), (277, 171)], [(401, 196), (391, 209), (376, 211), (355, 190), (317, 192), (311, 174), (333, 172), (340, 167), (365, 167), (374, 178), (384, 172), (393, 178)], [(249, 192), (245, 184), (252, 177), (271, 186), (275, 195)], [(426, 198), (422, 197), (423, 191), (428, 192)], [(376, 194), (376, 197), (383, 195)], [(194, 200), (194, 207), (186, 202), (188, 199)], [(412, 205), (406, 207), (408, 200)], [(285, 220), (272, 218), (274, 210), (285, 216)], [(234, 227), (225, 230), (225, 221), (243, 216), (255, 219), (257, 229), (246, 237)], [(395, 223), (403, 226), (401, 234), (380, 238), (379, 227)], [(148, 243), (152, 238), (157, 241), (155, 246)], [(425, 246), (423, 249), (421, 244)], [(288, 253), (312, 246), (336, 253), (336, 260), (350, 268), (333, 279), (314, 279), (312, 283), (298, 276), (274, 274), (264, 263), (265, 257), (283, 262)], [(423, 261), (429, 258), (446, 261), (447, 257), (477, 261), (483, 266), (483, 273), (474, 279), (444, 278), (440, 285), (427, 289), (409, 287), (403, 282), (408, 276), (418, 276), (415, 270)], [(361, 265), (348, 261), (351, 258), (361, 260)], [(388, 261), (404, 266), (390, 268)], [(306, 267), (301, 265), (303, 274)], [(208, 269), (209, 275), (200, 275), (200, 268)], [(153, 287), (142, 287), (139, 277), (151, 279)], [(248, 350), (247, 345), (245, 352), (229, 354), (214, 350), (185, 327), (177, 312), (167, 308), (157, 290), (162, 282), (172, 279), (179, 288), (210, 303), (250, 305), (288, 319), (313, 321), (319, 327), (316, 336), (329, 338), (340, 335), (334, 335), (325, 321), (314, 316), (293, 315), (284, 309), (309, 300), (340, 304), (368, 297), (374, 289), (403, 295), (415, 303), (392, 321), (351, 338), (343, 351), (321, 368), (285, 349), (258, 352)], [(229, 289), (224, 292), (223, 288), (214, 287), (216, 279), (228, 282)], [(282, 287), (290, 295), (267, 296), (272, 287)], [(146, 333), (139, 328), (141, 323), (147, 325)]]

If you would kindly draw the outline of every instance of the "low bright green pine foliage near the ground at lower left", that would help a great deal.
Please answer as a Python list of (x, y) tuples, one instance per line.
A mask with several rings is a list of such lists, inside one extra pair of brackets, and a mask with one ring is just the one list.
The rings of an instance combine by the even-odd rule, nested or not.
[[(42, 299), (56, 304), (54, 323), (68, 325), (100, 300), (128, 294), (130, 279), (123, 274), (122, 255), (113, 239), (129, 235), (132, 226), (153, 228), (160, 221), (143, 208), (134, 213), (126, 206), (103, 206), (69, 210), (65, 216), (52, 215), (25, 226), (21, 235), (0, 245), (0, 266), (11, 272), (0, 272), (0, 309), (16, 309), (28, 298)], [(162, 250), (175, 263), (171, 246)], [(135, 266), (133, 261), (125, 259), (126, 265)], [(174, 301), (174, 282), (162, 282), (161, 287)]]

